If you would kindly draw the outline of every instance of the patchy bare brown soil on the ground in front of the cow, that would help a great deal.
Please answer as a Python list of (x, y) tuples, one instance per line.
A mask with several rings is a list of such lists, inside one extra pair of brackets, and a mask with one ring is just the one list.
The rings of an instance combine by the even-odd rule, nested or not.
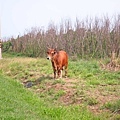
[[(63, 78), (62, 80), (64, 81), (64, 84), (61, 84), (59, 82), (53, 84), (55, 80), (51, 79), (51, 82), (45, 83), (45, 89), (37, 88), (36, 92), (45, 93), (50, 89), (54, 89), (55, 91), (63, 90), (65, 94), (60, 96), (59, 99), (57, 99), (57, 101), (63, 105), (71, 105), (71, 104), (82, 105), (87, 101), (87, 98), (89, 99), (92, 97), (97, 101), (97, 103), (94, 105), (88, 104), (88, 109), (92, 111), (94, 114), (99, 114), (101, 112), (108, 111), (107, 109), (101, 109), (101, 107), (107, 102), (116, 101), (120, 99), (120, 97), (117, 96), (115, 92), (110, 93), (109, 91), (106, 91), (105, 90), (106, 86), (98, 85), (94, 89), (89, 89), (86, 88), (85, 82), (83, 80), (70, 79), (70, 78)], [(37, 85), (39, 84), (40, 82), (38, 81)], [(108, 87), (113, 87), (113, 86), (108, 86)], [(81, 92), (81, 94), (79, 92)]]

